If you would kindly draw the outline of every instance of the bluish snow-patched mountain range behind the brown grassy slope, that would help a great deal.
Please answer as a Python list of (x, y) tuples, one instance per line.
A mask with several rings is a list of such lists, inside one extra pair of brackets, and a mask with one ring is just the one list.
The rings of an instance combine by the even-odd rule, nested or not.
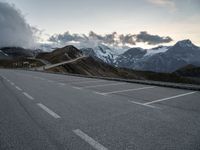
[(188, 64), (200, 66), (200, 48), (190, 40), (179, 41), (174, 46), (158, 46), (152, 49), (130, 48), (122, 54), (102, 45), (82, 50), (116, 67), (136, 70), (173, 72)]

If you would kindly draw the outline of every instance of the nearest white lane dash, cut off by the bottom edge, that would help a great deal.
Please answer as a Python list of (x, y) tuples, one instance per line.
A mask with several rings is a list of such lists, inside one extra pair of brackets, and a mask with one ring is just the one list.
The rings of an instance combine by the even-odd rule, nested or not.
[(90, 144), (94, 149), (96, 150), (108, 150), (106, 147), (89, 137), (87, 134), (82, 132), (80, 129), (73, 130), (73, 132), (79, 136), (81, 139), (83, 139), (85, 142)]

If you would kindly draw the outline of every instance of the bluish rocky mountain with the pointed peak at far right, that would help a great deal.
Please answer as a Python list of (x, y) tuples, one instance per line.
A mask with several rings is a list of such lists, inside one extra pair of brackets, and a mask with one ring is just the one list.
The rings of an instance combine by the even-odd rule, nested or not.
[(165, 52), (143, 57), (134, 64), (133, 69), (154, 72), (174, 72), (188, 64), (200, 65), (200, 48), (190, 40), (177, 42)]

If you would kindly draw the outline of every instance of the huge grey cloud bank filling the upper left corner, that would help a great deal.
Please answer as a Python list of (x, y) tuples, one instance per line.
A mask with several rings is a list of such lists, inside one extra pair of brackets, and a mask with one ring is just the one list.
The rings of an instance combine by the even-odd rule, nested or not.
[(13, 5), (0, 2), (0, 47), (34, 46), (34, 31)]

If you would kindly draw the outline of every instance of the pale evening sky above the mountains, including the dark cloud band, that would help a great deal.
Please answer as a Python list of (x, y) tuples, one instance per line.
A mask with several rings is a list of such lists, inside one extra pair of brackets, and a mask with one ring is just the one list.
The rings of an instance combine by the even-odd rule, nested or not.
[[(38, 35), (43, 42), (154, 47), (190, 39), (200, 45), (200, 0), (0, 2), (7, 2), (13, 9), (17, 9), (19, 17), (25, 20), (27, 34), (31, 34), (27, 28), (34, 29), (33, 34), (35, 31), (41, 31), (37, 33), (41, 33)], [(8, 13), (9, 9), (0, 10), (0, 27), (2, 16), (7, 15), (3, 13)], [(5, 26), (5, 20), (3, 23)], [(6, 32), (7, 29), (3, 33)]]

